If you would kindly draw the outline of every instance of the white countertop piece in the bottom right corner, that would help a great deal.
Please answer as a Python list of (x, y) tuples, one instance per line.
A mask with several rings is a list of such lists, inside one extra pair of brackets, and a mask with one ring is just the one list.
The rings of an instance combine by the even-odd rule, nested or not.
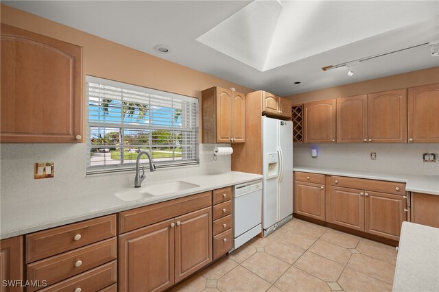
[(403, 222), (393, 291), (439, 291), (439, 228)]

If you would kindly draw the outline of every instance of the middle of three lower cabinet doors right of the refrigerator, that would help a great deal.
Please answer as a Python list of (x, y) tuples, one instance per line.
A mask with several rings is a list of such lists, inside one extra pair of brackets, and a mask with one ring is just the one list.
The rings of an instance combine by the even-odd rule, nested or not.
[(331, 223), (364, 231), (364, 191), (332, 186)]

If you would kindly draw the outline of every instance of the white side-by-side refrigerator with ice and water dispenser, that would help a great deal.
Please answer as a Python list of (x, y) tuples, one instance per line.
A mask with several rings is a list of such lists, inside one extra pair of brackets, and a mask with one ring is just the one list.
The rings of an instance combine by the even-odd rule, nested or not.
[(293, 122), (262, 117), (262, 228), (268, 236), (292, 219)]

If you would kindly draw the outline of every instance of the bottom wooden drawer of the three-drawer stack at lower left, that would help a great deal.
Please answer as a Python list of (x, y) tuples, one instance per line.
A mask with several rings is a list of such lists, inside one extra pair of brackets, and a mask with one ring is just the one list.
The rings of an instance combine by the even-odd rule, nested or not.
[[(94, 292), (100, 291), (116, 292), (116, 276), (117, 276), (117, 265), (116, 260), (111, 263), (102, 265), (90, 271), (81, 273), (78, 276), (74, 276), (57, 284), (51, 285), (43, 290), (42, 292), (73, 292), (80, 288), (81, 292)], [(110, 287), (108, 285), (114, 284)], [(113, 287), (111, 290), (110, 288)]]

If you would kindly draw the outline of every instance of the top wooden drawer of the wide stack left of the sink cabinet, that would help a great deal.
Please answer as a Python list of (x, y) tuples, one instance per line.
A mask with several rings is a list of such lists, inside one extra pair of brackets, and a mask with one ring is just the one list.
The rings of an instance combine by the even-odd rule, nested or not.
[(116, 215), (26, 235), (26, 263), (116, 236)]

